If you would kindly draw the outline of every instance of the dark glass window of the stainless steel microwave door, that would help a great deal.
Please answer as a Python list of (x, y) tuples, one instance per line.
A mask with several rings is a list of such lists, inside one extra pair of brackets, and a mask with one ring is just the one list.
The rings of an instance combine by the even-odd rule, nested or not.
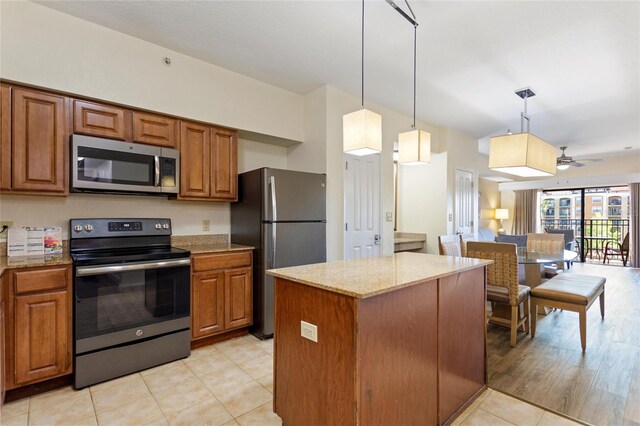
[(154, 185), (154, 157), (78, 147), (78, 179), (124, 185)]

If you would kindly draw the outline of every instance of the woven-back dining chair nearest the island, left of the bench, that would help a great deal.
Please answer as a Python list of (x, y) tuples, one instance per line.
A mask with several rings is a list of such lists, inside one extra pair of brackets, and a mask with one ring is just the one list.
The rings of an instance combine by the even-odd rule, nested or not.
[[(490, 243), (469, 241), (467, 256), (476, 259), (492, 260), (487, 266), (487, 301), (504, 304), (511, 307), (511, 318), (500, 318), (491, 315), (490, 320), (509, 326), (511, 332), (510, 344), (516, 346), (518, 328), (529, 334), (529, 292), (526, 285), (520, 285), (518, 280), (518, 253), (515, 244)], [(523, 305), (522, 318), (518, 307)]]

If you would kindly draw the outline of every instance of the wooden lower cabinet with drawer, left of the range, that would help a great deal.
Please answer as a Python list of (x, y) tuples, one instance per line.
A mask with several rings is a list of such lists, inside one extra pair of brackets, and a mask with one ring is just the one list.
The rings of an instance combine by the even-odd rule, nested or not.
[(68, 266), (5, 274), (7, 389), (71, 373), (71, 275)]

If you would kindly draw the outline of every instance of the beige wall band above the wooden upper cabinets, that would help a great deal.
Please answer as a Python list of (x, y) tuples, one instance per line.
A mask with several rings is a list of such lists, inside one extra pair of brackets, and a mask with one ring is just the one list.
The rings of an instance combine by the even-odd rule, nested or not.
[(0, 11), (2, 78), (303, 140), (301, 95), (32, 2)]

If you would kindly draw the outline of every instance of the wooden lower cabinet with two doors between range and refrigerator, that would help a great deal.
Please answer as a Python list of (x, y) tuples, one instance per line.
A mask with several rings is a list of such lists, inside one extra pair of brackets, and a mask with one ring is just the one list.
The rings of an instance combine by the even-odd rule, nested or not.
[[(251, 252), (194, 255), (191, 264), (192, 339), (251, 325)], [(205, 265), (218, 269), (203, 271)], [(224, 265), (244, 267), (222, 269)]]

